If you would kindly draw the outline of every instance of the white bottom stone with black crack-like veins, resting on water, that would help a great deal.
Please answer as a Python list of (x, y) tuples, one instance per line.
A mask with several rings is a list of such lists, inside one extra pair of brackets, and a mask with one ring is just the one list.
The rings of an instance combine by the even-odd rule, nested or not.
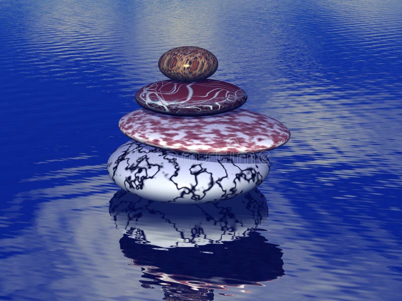
[(264, 153), (210, 156), (176, 153), (130, 140), (109, 158), (108, 173), (122, 189), (161, 202), (206, 203), (254, 189), (269, 173)]

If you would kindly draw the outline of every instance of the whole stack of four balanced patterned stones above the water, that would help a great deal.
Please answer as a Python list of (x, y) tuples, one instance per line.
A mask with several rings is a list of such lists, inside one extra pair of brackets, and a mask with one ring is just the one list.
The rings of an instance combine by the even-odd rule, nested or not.
[(143, 109), (120, 119), (132, 140), (110, 157), (108, 172), (122, 189), (142, 198), (206, 203), (247, 193), (269, 173), (264, 153), (290, 138), (268, 116), (239, 107), (246, 93), (207, 79), (218, 68), (211, 52), (183, 46), (165, 52), (160, 71), (170, 80), (141, 88)]

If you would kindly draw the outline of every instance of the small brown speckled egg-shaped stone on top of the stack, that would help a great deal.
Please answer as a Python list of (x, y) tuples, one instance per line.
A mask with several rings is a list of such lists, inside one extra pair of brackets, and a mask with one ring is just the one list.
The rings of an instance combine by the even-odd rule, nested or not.
[(216, 56), (194, 46), (176, 47), (159, 59), (159, 70), (168, 78), (179, 81), (197, 81), (210, 77), (218, 68)]

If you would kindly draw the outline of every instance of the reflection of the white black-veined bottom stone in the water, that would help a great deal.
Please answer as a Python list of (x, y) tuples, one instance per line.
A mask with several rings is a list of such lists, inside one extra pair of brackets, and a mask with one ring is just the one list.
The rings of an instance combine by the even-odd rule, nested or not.
[(257, 189), (227, 201), (197, 206), (171, 206), (119, 191), (109, 210), (124, 234), (161, 248), (199, 247), (248, 237), (268, 217), (266, 199)]

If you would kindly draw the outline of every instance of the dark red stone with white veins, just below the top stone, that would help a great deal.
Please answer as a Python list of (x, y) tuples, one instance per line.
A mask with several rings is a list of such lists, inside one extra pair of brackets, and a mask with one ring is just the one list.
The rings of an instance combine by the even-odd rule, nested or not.
[(205, 79), (198, 82), (164, 80), (138, 90), (142, 107), (163, 114), (204, 116), (233, 110), (247, 99), (244, 90), (231, 83)]

